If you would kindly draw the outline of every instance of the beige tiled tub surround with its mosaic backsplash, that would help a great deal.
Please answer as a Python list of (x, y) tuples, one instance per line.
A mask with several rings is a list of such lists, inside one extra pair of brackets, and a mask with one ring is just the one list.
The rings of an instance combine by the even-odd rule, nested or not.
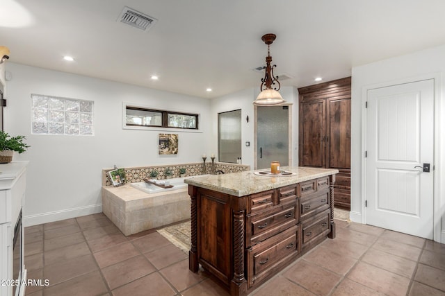
[[(239, 164), (216, 163), (215, 171), (225, 173), (248, 171), (250, 166)], [(111, 186), (111, 182), (103, 171), (102, 211), (126, 236), (147, 229), (162, 227), (190, 219), (190, 197), (187, 186), (183, 189), (145, 193), (131, 184), (143, 182), (149, 173), (156, 169), (158, 179), (164, 179), (163, 171), (172, 169), (174, 176), (179, 177), (179, 168), (186, 168), (186, 177), (204, 173), (202, 164), (183, 164), (177, 166), (152, 166), (140, 168), (125, 168), (127, 184), (119, 187)], [(207, 173), (213, 168), (207, 164)]]

